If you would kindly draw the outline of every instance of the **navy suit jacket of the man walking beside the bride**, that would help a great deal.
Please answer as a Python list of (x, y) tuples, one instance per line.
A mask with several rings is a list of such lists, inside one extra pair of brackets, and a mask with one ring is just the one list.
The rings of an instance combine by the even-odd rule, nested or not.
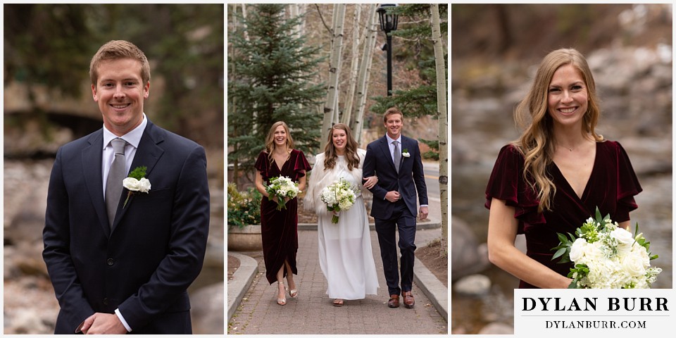
[(385, 194), (390, 191), (399, 192), (406, 202), (411, 215), (418, 215), (418, 205), (415, 203), (415, 192), (418, 192), (420, 204), (427, 204), (427, 186), (425, 185), (425, 173), (423, 173), (423, 160), (420, 156), (418, 141), (401, 135), (401, 151), (408, 151), (410, 157), (401, 156), (399, 173), (394, 168), (392, 154), (389, 152), (387, 137), (383, 136), (366, 146), (364, 158), (363, 176), (377, 175), (378, 183), (370, 190), (373, 193), (373, 206), (371, 216), (373, 218), (388, 219), (392, 217), (394, 203), (385, 199)]

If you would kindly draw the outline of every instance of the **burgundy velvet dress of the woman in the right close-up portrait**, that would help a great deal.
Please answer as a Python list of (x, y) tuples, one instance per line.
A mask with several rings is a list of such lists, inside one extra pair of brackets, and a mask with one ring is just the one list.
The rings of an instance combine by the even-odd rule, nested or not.
[[(537, 212), (537, 194), (523, 179), (523, 168), (522, 154), (514, 146), (503, 146), (486, 188), (485, 206), (490, 208), (493, 198), (513, 206), (518, 233), (526, 237), (527, 256), (561, 275), (568, 275), (572, 263), (558, 263), (559, 258), (551, 260), (555, 252), (551, 249), (559, 244), (557, 232), (575, 234), (577, 227), (596, 214), (597, 206), (601, 215), (610, 214), (611, 220), (618, 223), (630, 220), (630, 211), (638, 207), (634, 195), (642, 189), (625, 149), (618, 142), (596, 143), (592, 175), (582, 198), (577, 197), (555, 163), (547, 165), (556, 185), (551, 211)], [(524, 281), (519, 287), (536, 288)]]

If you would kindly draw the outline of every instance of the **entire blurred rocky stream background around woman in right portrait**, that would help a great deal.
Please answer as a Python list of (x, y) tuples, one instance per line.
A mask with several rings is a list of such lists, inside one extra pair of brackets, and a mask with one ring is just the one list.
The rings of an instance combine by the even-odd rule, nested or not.
[(518, 280), (487, 261), (484, 192), (520, 134), (515, 105), (558, 48), (587, 57), (598, 130), (625, 147), (644, 189), (632, 223), (660, 256), (653, 287), (672, 287), (672, 5), (453, 4), (451, 25), (451, 333), (512, 333)]

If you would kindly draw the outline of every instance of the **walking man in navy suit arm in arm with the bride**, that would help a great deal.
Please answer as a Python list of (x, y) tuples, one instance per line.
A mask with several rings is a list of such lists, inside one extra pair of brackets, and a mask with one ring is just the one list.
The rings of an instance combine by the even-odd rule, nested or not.
[[(380, 244), (380, 257), (389, 290), (390, 308), (399, 307), (399, 294), (406, 308), (415, 304), (413, 285), (413, 262), (415, 256), (415, 218), (418, 192), (420, 220), (427, 218), (427, 187), (420, 158), (418, 141), (401, 134), (403, 113), (392, 107), (383, 115), (387, 134), (366, 147), (363, 175), (377, 175), (377, 184), (369, 189), (373, 193), (371, 216), (375, 218), (375, 230)], [(396, 231), (399, 230), (401, 252), (401, 287), (396, 257)]]

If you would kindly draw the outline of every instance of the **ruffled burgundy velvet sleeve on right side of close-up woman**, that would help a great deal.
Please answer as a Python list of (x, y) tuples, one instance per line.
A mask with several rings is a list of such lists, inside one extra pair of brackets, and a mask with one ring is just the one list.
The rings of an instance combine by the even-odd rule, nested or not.
[(629, 161), (627, 152), (619, 142), (613, 142), (613, 144), (616, 145), (618, 161), (618, 204), (613, 220), (624, 222), (625, 220), (630, 220), (630, 211), (639, 207), (634, 200), (634, 196), (643, 191), (643, 189), (641, 188), (641, 184), (639, 184), (636, 173), (634, 173), (634, 168)]

